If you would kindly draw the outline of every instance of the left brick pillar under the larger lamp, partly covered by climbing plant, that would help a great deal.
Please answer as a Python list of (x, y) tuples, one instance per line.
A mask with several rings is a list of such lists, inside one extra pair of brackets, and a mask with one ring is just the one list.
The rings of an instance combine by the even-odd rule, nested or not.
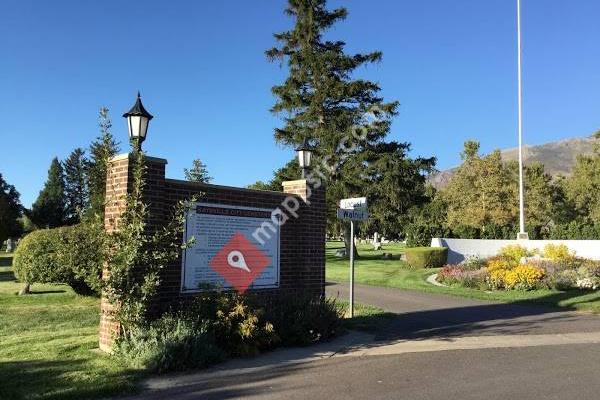
[[(125, 196), (131, 190), (132, 170), (131, 154), (121, 154), (112, 158), (106, 171), (106, 205), (104, 209), (104, 229), (107, 233), (119, 229), (121, 215), (125, 211)], [(148, 226), (158, 226), (164, 221), (162, 190), (165, 182), (165, 165), (167, 160), (162, 158), (145, 157), (146, 174), (143, 198), (148, 205)], [(108, 268), (102, 272), (109, 274)], [(100, 301), (100, 350), (110, 352), (114, 338), (120, 332), (119, 324), (112, 318), (114, 305), (104, 296)]]

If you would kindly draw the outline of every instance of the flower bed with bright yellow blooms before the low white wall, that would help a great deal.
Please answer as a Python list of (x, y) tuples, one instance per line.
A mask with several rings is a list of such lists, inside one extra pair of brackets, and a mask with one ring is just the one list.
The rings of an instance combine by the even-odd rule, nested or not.
[(495, 257), (471, 257), (457, 265), (446, 265), (437, 280), (482, 290), (597, 290), (600, 261), (579, 258), (564, 245), (550, 244), (542, 252), (511, 245)]

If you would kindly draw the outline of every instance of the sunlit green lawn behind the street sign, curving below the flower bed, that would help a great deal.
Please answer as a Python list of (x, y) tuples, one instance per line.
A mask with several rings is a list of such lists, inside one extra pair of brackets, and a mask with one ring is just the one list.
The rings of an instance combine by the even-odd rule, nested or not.
[[(326, 278), (333, 282), (348, 282), (348, 259), (335, 256), (335, 250), (343, 248), (342, 242), (327, 243)], [(420, 290), (432, 293), (444, 293), (455, 296), (501, 302), (534, 302), (555, 307), (566, 307), (577, 310), (600, 313), (600, 291), (582, 292), (572, 290), (535, 291), (492, 291), (485, 292), (468, 288), (446, 288), (433, 286), (426, 278), (436, 269), (412, 269), (399, 259), (404, 247), (400, 244), (384, 245), (382, 250), (374, 251), (371, 245), (358, 245), (359, 258), (355, 262), (355, 279), (357, 283), (374, 286), (387, 286), (400, 289)], [(392, 253), (395, 259), (383, 260), (383, 253)]]

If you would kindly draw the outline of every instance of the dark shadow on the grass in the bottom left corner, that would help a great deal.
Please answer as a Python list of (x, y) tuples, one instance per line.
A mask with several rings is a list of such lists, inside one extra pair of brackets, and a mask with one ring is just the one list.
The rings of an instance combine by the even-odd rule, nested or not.
[(84, 359), (0, 362), (0, 399), (87, 399), (135, 390), (139, 373), (98, 370), (93, 376), (84, 375), (88, 363)]

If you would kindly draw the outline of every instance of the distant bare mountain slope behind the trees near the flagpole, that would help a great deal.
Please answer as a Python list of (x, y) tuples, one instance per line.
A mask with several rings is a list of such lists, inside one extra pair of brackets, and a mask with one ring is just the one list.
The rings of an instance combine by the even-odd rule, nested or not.
[[(536, 146), (523, 146), (523, 161), (528, 163), (539, 161), (544, 164), (544, 169), (550, 175), (569, 175), (575, 160), (580, 154), (590, 154), (594, 147), (594, 138), (572, 138), (550, 142)], [(518, 148), (500, 150), (502, 160), (511, 161), (519, 159)], [(456, 168), (447, 169), (433, 174), (429, 182), (436, 188), (445, 187), (454, 174)]]

